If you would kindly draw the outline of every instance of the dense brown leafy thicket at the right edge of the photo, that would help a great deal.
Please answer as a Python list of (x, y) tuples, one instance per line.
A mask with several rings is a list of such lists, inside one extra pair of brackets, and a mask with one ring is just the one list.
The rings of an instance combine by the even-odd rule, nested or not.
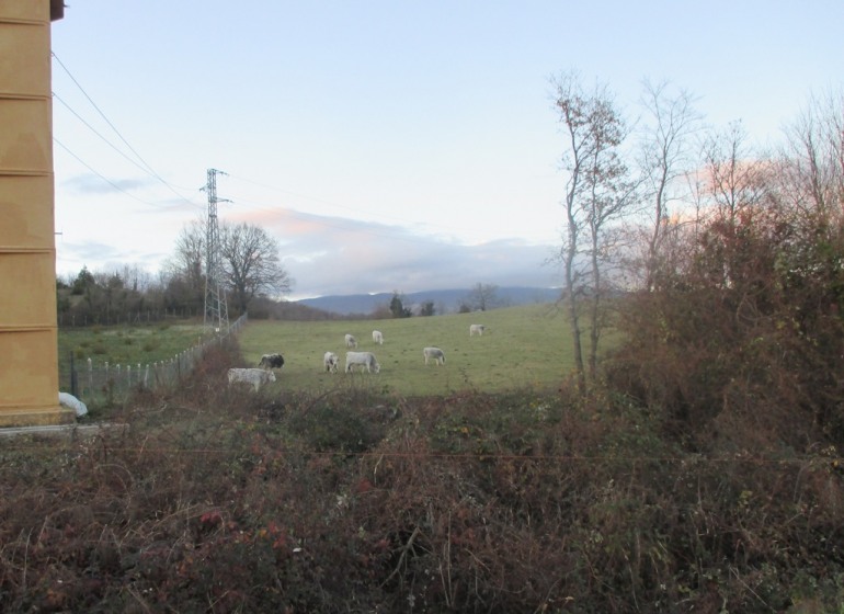
[(621, 310), (612, 384), (696, 446), (844, 444), (843, 236), (773, 195), (702, 220)]

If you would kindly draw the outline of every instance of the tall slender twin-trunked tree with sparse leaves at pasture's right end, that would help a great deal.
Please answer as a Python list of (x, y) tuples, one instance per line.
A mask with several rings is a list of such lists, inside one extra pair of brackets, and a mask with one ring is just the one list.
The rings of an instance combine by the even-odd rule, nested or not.
[(566, 234), (560, 249), (564, 295), (578, 383), (585, 387), (580, 323), (582, 303), (590, 299), (590, 371), (594, 374), (602, 328), (602, 270), (609, 257), (613, 223), (632, 202), (634, 184), (619, 147), (627, 128), (607, 90), (586, 92), (574, 72), (555, 81), (556, 105), (567, 141), (562, 156), (566, 184)]

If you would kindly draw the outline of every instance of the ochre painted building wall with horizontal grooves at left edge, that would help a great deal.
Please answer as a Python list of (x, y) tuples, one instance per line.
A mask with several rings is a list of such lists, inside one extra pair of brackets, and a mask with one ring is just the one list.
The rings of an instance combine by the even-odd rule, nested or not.
[(0, 427), (75, 420), (58, 405), (50, 9), (0, 2)]

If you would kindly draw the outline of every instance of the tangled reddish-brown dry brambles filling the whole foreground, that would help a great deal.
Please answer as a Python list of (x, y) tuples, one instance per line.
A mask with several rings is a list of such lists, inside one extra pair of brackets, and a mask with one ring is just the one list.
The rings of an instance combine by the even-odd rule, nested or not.
[[(834, 448), (689, 452), (612, 395), (218, 386), (0, 442), (5, 612), (825, 612)], [(360, 380), (358, 380), (360, 382)]]

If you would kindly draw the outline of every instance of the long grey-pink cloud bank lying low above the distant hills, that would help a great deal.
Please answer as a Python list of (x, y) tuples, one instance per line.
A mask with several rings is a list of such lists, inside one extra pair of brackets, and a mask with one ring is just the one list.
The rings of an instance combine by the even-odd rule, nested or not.
[(463, 245), (401, 226), (289, 209), (242, 216), (274, 236), (295, 280), (293, 298), (327, 294), (559, 285), (554, 247), (505, 238)]

